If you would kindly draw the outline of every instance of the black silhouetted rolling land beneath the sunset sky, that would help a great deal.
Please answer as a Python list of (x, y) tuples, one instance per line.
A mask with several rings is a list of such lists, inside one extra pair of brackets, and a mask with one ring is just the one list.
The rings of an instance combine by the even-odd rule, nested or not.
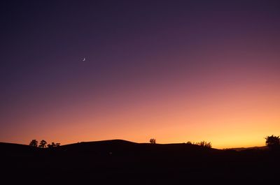
[[(53, 149), (0, 143), (4, 184), (279, 184), (279, 152), (125, 140)], [(2, 183), (1, 183), (2, 184)]]

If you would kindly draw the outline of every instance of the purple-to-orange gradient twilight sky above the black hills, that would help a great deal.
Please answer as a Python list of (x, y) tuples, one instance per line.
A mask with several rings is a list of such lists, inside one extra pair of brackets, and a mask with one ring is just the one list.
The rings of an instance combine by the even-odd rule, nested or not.
[(0, 7), (0, 142), (223, 149), (280, 135), (279, 1)]

